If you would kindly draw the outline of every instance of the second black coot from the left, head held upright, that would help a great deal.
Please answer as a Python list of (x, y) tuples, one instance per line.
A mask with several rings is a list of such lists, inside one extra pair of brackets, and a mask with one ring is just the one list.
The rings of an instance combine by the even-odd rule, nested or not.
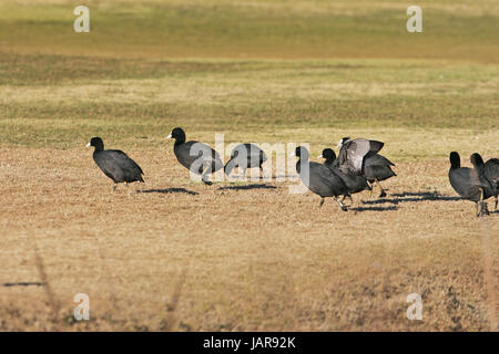
[(207, 175), (224, 168), (224, 163), (218, 153), (206, 144), (195, 140), (185, 142), (185, 133), (180, 127), (174, 128), (167, 138), (175, 139), (173, 152), (179, 163), (200, 175), (203, 183), (212, 185), (213, 183), (207, 179)]

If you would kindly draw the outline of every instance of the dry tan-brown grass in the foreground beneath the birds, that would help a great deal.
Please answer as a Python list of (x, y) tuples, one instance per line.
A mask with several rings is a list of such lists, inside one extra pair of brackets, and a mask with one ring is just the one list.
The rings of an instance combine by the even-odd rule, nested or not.
[[(53, 323), (42, 287), (0, 287), (1, 330), (492, 329), (498, 214), (448, 198), (445, 158), (398, 164), (386, 200), (355, 196), (342, 212), (287, 183), (192, 183), (166, 144), (129, 153), (146, 174), (131, 194), (89, 150), (0, 149), (0, 284), (42, 281), (33, 235), (62, 308)], [(167, 188), (197, 194), (135, 192)], [(90, 322), (72, 320), (80, 292)], [(405, 316), (413, 292), (422, 321)]]

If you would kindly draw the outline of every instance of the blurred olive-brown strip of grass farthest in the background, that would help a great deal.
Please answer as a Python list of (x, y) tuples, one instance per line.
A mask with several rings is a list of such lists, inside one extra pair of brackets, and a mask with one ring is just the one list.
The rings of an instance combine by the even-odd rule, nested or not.
[(144, 58), (421, 58), (498, 62), (495, 1), (420, 1), (424, 33), (406, 31), (396, 1), (90, 1), (91, 32), (72, 29), (74, 3), (0, 6), (2, 48)]

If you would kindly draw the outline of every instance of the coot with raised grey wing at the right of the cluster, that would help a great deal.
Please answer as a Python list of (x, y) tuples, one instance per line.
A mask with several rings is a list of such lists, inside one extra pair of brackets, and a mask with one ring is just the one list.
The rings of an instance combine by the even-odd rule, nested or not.
[(390, 168), (390, 166), (395, 165), (388, 158), (378, 154), (383, 148), (384, 143), (366, 139), (352, 140), (349, 137), (344, 137), (339, 140), (338, 148), (342, 150), (343, 146), (347, 149), (347, 156), (348, 154), (352, 155), (348, 150), (353, 150), (354, 156), (357, 155), (357, 157), (349, 158), (350, 160), (356, 158), (356, 164), (359, 163), (359, 156), (368, 149), (361, 162), (361, 174), (368, 183), (373, 185), (377, 184), (379, 186), (379, 189), (381, 190), (379, 197), (386, 197), (385, 189), (383, 189), (379, 183), (397, 175)]

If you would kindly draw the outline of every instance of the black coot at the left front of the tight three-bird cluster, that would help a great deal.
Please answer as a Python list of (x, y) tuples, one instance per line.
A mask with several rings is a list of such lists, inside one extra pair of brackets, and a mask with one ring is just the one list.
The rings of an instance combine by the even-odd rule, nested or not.
[(342, 210), (347, 211), (347, 207), (337, 199), (338, 196), (344, 196), (344, 199), (345, 196), (348, 196), (347, 186), (342, 178), (326, 166), (318, 163), (310, 163), (306, 147), (298, 146), (295, 149), (295, 156), (298, 157), (296, 171), (303, 184), (310, 191), (320, 196), (319, 208), (323, 206), (326, 197), (335, 197)]

